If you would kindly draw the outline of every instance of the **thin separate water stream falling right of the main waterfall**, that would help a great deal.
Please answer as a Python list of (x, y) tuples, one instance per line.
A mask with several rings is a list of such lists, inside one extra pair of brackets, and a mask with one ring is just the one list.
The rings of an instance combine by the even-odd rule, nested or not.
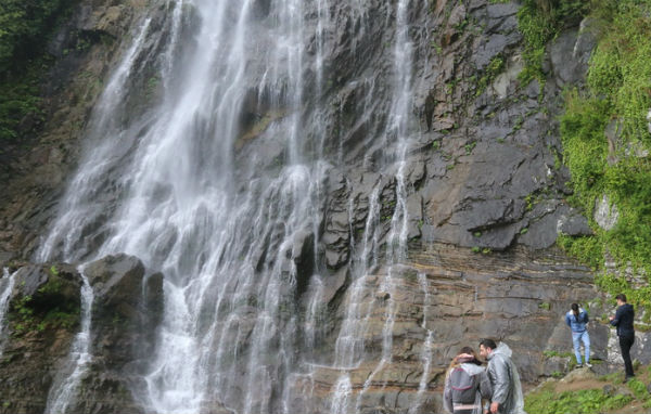
[[(412, 47), (409, 40), (409, 23), (408, 23), (408, 8), (409, 0), (399, 0), (396, 4), (396, 35), (395, 35), (395, 43), (393, 49), (394, 54), (394, 66), (393, 66), (393, 92), (392, 92), (392, 106), (388, 113), (388, 121), (386, 128), (384, 130), (384, 139), (385, 145), (390, 145), (390, 141), (394, 141), (393, 147), (397, 148), (397, 154), (394, 158), (394, 167), (397, 165), (397, 172), (395, 173), (395, 182), (396, 182), (396, 191), (395, 191), (395, 204), (396, 208), (393, 212), (391, 220), (391, 231), (388, 236), (386, 237), (387, 246), (386, 246), (386, 270), (385, 274), (382, 276), (381, 282), (378, 286), (378, 293), (375, 296), (384, 297), (386, 300), (384, 301), (384, 326), (382, 328), (382, 355), (371, 372), (371, 374), (366, 379), (361, 391), (357, 396), (357, 402), (355, 406), (355, 412), (359, 412), (363, 394), (369, 390), (378, 374), (386, 367), (387, 364), (392, 362), (393, 354), (393, 326), (395, 321), (395, 312), (396, 312), (396, 303), (394, 300), (395, 294), (395, 274), (396, 266), (398, 266), (401, 261), (406, 259), (407, 251), (407, 222), (408, 222), (408, 212), (406, 207), (406, 198), (407, 191), (405, 189), (405, 157), (407, 155), (409, 140), (408, 140), (408, 129), (410, 122), (410, 109), (411, 109), (411, 57), (412, 57)], [(392, 158), (387, 156), (387, 158)], [(388, 163), (387, 163), (388, 164)], [(365, 234), (372, 234), (373, 248), (371, 249), (373, 253), (370, 254), (367, 250), (367, 240), (365, 240), (365, 248), (362, 250), (361, 260), (366, 264), (370, 260), (372, 261), (373, 269), (378, 263), (378, 249), (376, 243), (379, 237), (378, 231), (379, 225), (378, 222), (372, 222), (376, 216), (372, 214), (372, 211), (379, 210), (378, 206), (378, 193), (373, 192), (373, 195), (369, 200), (369, 221), (367, 221), (367, 228), (365, 229)], [(337, 338), (337, 352), (336, 355), (347, 355), (345, 359), (344, 365), (352, 365), (355, 361), (359, 364), (360, 360), (356, 357), (359, 352), (355, 352), (355, 345), (357, 348), (363, 349), (363, 338), (366, 336), (366, 332), (368, 329), (368, 321), (369, 316), (373, 310), (374, 301), (373, 296), (371, 296), (371, 301), (367, 303), (367, 312), (365, 316), (359, 314), (358, 308), (360, 306), (359, 301), (361, 297), (365, 296), (363, 285), (365, 276), (367, 274), (368, 269), (366, 267), (361, 267), (357, 269), (359, 276), (353, 285), (353, 292), (350, 294), (350, 302), (348, 303), (348, 314), (344, 321), (342, 326), (342, 331), (340, 332), (340, 336)], [(353, 339), (350, 339), (353, 338)], [(349, 342), (349, 349), (341, 350), (339, 348), (341, 342)], [(340, 358), (341, 359), (341, 358)], [(339, 360), (337, 360), (339, 361)], [(341, 362), (341, 361), (340, 361)], [(349, 381), (348, 373), (344, 372), (344, 374), (340, 377), (340, 381), (335, 387), (334, 400), (342, 400), (347, 402), (346, 398), (341, 394), (341, 384), (346, 384)], [(343, 388), (342, 388), (343, 389)], [(346, 392), (349, 391), (346, 389)], [(333, 411), (336, 413), (347, 412), (349, 407), (344, 407), (342, 411), (342, 403), (337, 402), (333, 403), (333, 410), (336, 407), (337, 411)]]

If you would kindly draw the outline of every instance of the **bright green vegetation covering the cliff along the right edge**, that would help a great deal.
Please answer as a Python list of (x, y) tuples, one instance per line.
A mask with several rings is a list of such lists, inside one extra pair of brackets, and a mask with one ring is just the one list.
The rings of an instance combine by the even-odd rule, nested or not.
[[(624, 270), (651, 275), (651, 1), (592, 1), (590, 16), (600, 39), (584, 90), (565, 94), (561, 118), (564, 164), (570, 168), (571, 204), (590, 218), (593, 236), (561, 236), (558, 244), (597, 271), (597, 284), (629, 301), (651, 306), (651, 287), (633, 288), (622, 276), (603, 272), (605, 255)], [(609, 128), (610, 143), (605, 135)], [(603, 195), (618, 219), (603, 230), (591, 219)]]

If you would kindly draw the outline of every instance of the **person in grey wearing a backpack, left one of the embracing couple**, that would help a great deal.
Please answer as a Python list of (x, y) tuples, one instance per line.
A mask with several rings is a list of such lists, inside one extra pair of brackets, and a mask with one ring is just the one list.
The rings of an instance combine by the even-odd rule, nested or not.
[(493, 393), (486, 370), (470, 347), (452, 359), (445, 376), (444, 409), (451, 414), (482, 414), (482, 398)]

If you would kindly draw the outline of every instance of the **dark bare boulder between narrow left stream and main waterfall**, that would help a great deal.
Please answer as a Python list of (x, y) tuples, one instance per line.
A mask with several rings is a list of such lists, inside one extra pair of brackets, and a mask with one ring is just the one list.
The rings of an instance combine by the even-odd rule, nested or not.
[(107, 256), (85, 270), (93, 289), (92, 361), (75, 412), (142, 413), (131, 390), (142, 387), (162, 318), (163, 274), (145, 275), (132, 256)]

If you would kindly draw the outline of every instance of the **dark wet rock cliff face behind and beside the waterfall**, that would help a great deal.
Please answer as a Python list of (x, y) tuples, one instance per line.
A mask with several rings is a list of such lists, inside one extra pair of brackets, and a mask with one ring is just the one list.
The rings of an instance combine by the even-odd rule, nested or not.
[[(264, 333), (276, 338), (282, 336), (279, 331), (292, 331), (293, 324), (305, 327), (298, 329), (297, 338), (270, 340), (276, 348), (256, 349), (255, 314), (266, 308), (257, 302), (259, 297), (240, 297), (244, 283), (225, 285), (222, 290), (234, 298), (232, 302), (227, 298), (224, 303), (206, 305), (200, 309), (196, 326), (207, 331), (203, 327), (210, 314), (207, 308), (240, 312), (237, 325), (230, 319), (220, 322), (226, 325), (221, 341), (241, 342), (232, 355), (221, 355), (234, 361), (222, 365), (235, 380), (224, 394), (209, 390), (202, 394), (202, 413), (255, 409), (275, 413), (437, 412), (445, 368), (460, 347), (476, 347), (482, 337), (503, 339), (514, 350), (523, 380), (536, 383), (566, 368), (566, 359), (545, 358), (542, 352), (570, 350), (570, 334), (562, 323), (570, 303), (588, 306), (595, 319), (610, 311), (593, 287), (590, 270), (554, 247), (559, 232), (590, 232), (586, 219), (564, 202), (569, 177), (559, 163), (562, 147), (556, 119), (562, 89), (582, 82), (593, 36), (578, 27), (567, 29), (548, 48), (545, 85), (520, 85), (518, 74), (524, 64), (516, 2), (412, 1), (406, 13), (412, 47), (411, 144), (400, 155), (382, 127), (395, 111), (387, 80), (394, 65), (390, 46), (398, 37), (395, 2), (363, 3), (366, 14), (353, 13), (354, 7), (344, 2), (330, 4), (327, 40), (308, 39), (308, 52), (322, 48), (328, 56), (323, 102), (308, 101), (305, 109), (317, 107), (326, 126), (324, 131), (310, 132), (312, 141), (323, 137), (320, 145), (329, 164), (319, 183), (318, 230), (302, 229), (289, 247), (280, 232), (266, 233), (259, 250), (235, 255), (241, 262), (254, 257), (256, 272), (280, 268), (281, 274), (295, 277), (286, 287), (293, 289), (288, 295), (293, 302), (275, 309), (284, 315), (282, 326)], [(48, 404), (51, 407), (56, 393), (52, 390), (61, 388), (74, 371), (68, 351), (84, 316), (82, 274), (68, 264), (22, 266), (17, 260), (34, 257), (47, 227), (54, 221), (58, 200), (81, 157), (91, 108), (111, 68), (127, 49), (123, 39), (135, 33), (145, 12), (159, 36), (143, 47), (146, 52), (139, 56), (143, 69), (128, 82), (133, 92), (124, 103), (119, 121), (137, 125), (133, 119), (151, 115), (148, 105), (161, 88), (148, 65), (157, 62), (154, 56), (171, 37), (167, 20), (175, 10), (171, 2), (161, 4), (81, 1), (52, 41), (52, 51), (61, 61), (46, 91), (51, 101), (50, 120), (38, 144), (11, 166), (7, 196), (0, 200), (0, 264), (21, 268), (0, 280), (7, 285), (13, 277), (14, 286), (2, 342), (0, 413), (39, 413)], [(255, 18), (272, 18), (268, 16), (270, 2), (253, 4)], [(181, 31), (187, 31), (183, 38), (194, 39), (193, 25), (199, 17), (184, 7)], [(314, 4), (305, 8), (306, 20), (315, 24), (314, 16), (320, 11), (312, 10)], [(90, 46), (64, 55), (66, 46), (79, 37)], [(318, 73), (316, 67), (306, 69), (310, 70)], [(317, 78), (311, 74), (306, 82), (316, 89)], [(288, 109), (251, 88), (238, 118), (241, 133), (233, 143), (233, 164), (241, 168), (232, 179), (234, 186), (241, 187), (255, 181), (246, 177), (254, 165), (279, 174), (279, 159), (288, 151), (272, 133), (275, 126), (289, 117)], [(146, 133), (148, 122), (139, 125), (138, 135)], [(307, 146), (317, 146), (309, 142)], [(135, 151), (126, 148), (124, 158)], [(400, 164), (392, 164), (399, 157)], [(81, 233), (73, 255), (76, 260), (98, 254), (112, 227), (110, 218), (120, 208), (125, 193), (114, 176), (124, 165), (116, 166), (102, 186), (93, 190), (105, 210), (88, 227), (68, 229)], [(158, 190), (170, 191), (152, 192)], [(392, 260), (388, 253), (397, 205), (406, 211), (404, 238), (409, 243)], [(371, 266), (365, 263), (366, 271), (356, 276), (358, 242), (367, 240), (365, 232), (372, 220), (379, 223), (373, 246), (382, 254), (375, 255), (380, 259)], [(157, 329), (163, 314), (174, 311), (164, 310), (169, 296), (164, 297), (171, 290), (164, 294), (165, 276), (158, 271), (164, 270), (161, 263), (173, 255), (171, 246), (181, 236), (170, 232), (163, 238), (165, 243), (152, 242), (151, 251), (142, 258), (146, 270), (138, 258), (126, 255), (85, 266), (84, 275), (94, 295), (89, 334), (92, 358), (68, 399), (69, 412), (158, 412), (142, 396), (159, 386), (152, 384), (156, 380), (152, 355), (163, 340), (164, 331)], [(186, 241), (184, 246), (199, 243)], [(280, 253), (278, 259), (272, 258), (275, 251)], [(199, 260), (208, 261), (205, 255)], [(181, 260), (165, 270), (182, 274), (194, 269), (192, 266)], [(318, 286), (317, 271), (321, 273)], [(177, 282), (174, 277), (168, 281)], [(205, 286), (207, 295), (213, 288)], [(277, 293), (284, 300), (283, 295)], [(48, 313), (53, 309), (59, 313)], [(352, 339), (342, 334), (347, 324), (354, 331), (360, 328)], [(616, 346), (609, 342), (609, 328), (595, 323), (590, 333), (595, 354), (609, 361), (603, 370), (616, 366)], [(363, 348), (362, 362), (348, 366), (345, 361), (333, 363), (343, 358), (348, 339), (352, 354)], [(284, 355), (285, 341), (301, 345)], [(646, 341), (641, 334), (634, 355), (648, 362)], [(242, 362), (256, 350), (263, 359)], [(214, 358), (205, 364), (214, 363)], [(280, 366), (269, 362), (276, 359), (290, 362)], [(247, 405), (242, 400), (252, 398), (245, 383), (251, 381), (250, 361), (276, 371), (269, 368), (273, 384), (256, 390), (255, 400)], [(218, 389), (220, 380), (206, 383)]]

